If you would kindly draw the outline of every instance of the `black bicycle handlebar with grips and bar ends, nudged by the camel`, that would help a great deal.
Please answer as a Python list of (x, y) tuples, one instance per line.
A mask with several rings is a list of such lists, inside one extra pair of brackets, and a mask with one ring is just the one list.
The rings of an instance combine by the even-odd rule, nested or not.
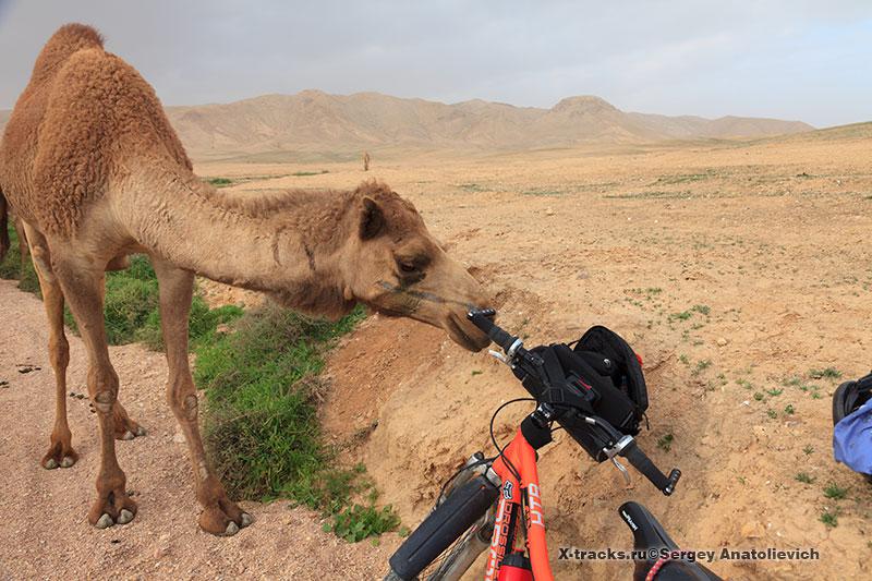
[[(516, 363), (519, 363), (518, 367), (522, 374), (528, 373), (535, 373), (535, 368), (540, 367), (541, 360), (531, 354), (530, 351), (522, 347), (522, 342), (514, 337), (510, 332), (501, 329), (497, 324), (494, 323), (493, 317), (496, 315), (496, 311), (494, 308), (482, 308), (482, 310), (472, 310), (467, 314), (467, 318), (469, 318), (476, 327), (479, 327), (483, 332), (491, 338), (491, 340), (497, 343), (502, 351), (508, 355), (512, 364), (512, 368), (516, 368)], [(517, 372), (516, 372), (517, 375)], [(519, 378), (523, 378), (522, 375), (518, 376)], [(546, 380), (545, 377), (541, 377), (541, 379)], [(533, 394), (535, 396), (535, 394)], [(538, 398), (536, 398), (538, 399)], [(603, 421), (602, 419), (600, 419)], [(558, 423), (561, 423), (560, 420), (557, 420)], [(605, 421), (603, 421), (605, 422)], [(562, 424), (561, 424), (562, 425)], [(610, 429), (606, 429), (606, 426)], [(570, 426), (564, 426), (566, 431), (573, 436), (574, 439), (579, 439), (574, 437), (573, 429)], [(601, 429), (606, 432), (610, 432), (609, 436), (615, 437), (617, 434), (614, 426), (606, 422), (605, 426), (600, 426)], [(678, 484), (678, 480), (681, 477), (681, 471), (677, 468), (674, 468), (669, 475), (666, 476), (661, 470), (651, 461), (651, 459), (642, 451), (642, 448), (635, 443), (632, 437), (629, 437), (629, 443), (626, 444), (620, 451), (618, 452), (620, 456), (627, 459), (630, 464), (633, 465), (642, 475), (644, 475), (651, 483), (657, 487), (663, 494), (669, 496), (675, 492), (675, 486)], [(618, 441), (615, 441), (617, 445)]]

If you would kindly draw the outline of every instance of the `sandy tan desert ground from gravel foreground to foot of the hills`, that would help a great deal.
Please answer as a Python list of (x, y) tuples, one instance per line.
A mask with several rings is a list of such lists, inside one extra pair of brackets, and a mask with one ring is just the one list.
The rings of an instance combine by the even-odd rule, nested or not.
[[(630, 578), (628, 564), (556, 560), (559, 546), (629, 548), (617, 515), (629, 499), (645, 504), (687, 548), (820, 552), (806, 562), (714, 562), (723, 577), (861, 579), (870, 576), (872, 487), (832, 458), (829, 396), (837, 373), (852, 378), (872, 367), (870, 137), (872, 128), (859, 125), (754, 142), (491, 154), (382, 148), (367, 173), (351, 154), (281, 162), (247, 156), (195, 169), (252, 195), (384, 180), (496, 292), (504, 327), (528, 344), (576, 339), (596, 324), (630, 341), (651, 399), (640, 443), (683, 477), (669, 498), (638, 475), (625, 489), (614, 468), (558, 433), (540, 461), (558, 579)], [(206, 288), (214, 302), (258, 300)], [(282, 503), (245, 505), (257, 521), (233, 538), (199, 532), (184, 445), (164, 399), (165, 363), (140, 346), (112, 349), (121, 400), (150, 431), (119, 443), (140, 516), (128, 526), (90, 529), (97, 440), (87, 400), (71, 399), (80, 462), (43, 470), (53, 380), (41, 306), (2, 281), (0, 319), (0, 378), (10, 382), (0, 389), (0, 463), (8, 467), (0, 579), (384, 572), (396, 534), (377, 547), (347, 545), (322, 532), (316, 515)], [(84, 349), (71, 342), (70, 389), (82, 392)], [(41, 370), (20, 374), (20, 364)], [(328, 375), (322, 414), (330, 437), (349, 461), (366, 463), (382, 500), (410, 526), (459, 462), (491, 451), (494, 410), (525, 395), (486, 354), (462, 351), (438, 329), (379, 316), (342, 341)], [(529, 411), (506, 410), (497, 437), (510, 438)], [(825, 497), (832, 483), (847, 488), (846, 498)], [(822, 522), (825, 513), (836, 526)]]

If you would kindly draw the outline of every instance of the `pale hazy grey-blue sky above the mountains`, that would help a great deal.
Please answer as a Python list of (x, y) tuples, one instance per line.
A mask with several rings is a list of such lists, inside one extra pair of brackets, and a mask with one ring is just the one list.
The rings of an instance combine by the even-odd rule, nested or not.
[(0, 0), (0, 108), (72, 21), (97, 26), (167, 105), (319, 88), (872, 120), (870, 0)]

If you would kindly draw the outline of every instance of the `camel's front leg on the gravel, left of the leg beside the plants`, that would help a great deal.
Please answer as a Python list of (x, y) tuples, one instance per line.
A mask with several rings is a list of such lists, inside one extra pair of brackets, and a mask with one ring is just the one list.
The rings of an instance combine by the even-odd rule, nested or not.
[[(63, 247), (53, 245), (52, 249)], [(82, 339), (88, 351), (88, 394), (97, 413), (100, 435), (100, 470), (97, 475), (97, 500), (88, 512), (88, 522), (98, 529), (125, 524), (136, 515), (136, 504), (128, 497), (126, 476), (116, 457), (114, 406), (118, 401), (118, 375), (109, 361), (102, 314), (104, 266), (72, 256), (53, 256), (52, 267), (63, 294), (70, 303)]]

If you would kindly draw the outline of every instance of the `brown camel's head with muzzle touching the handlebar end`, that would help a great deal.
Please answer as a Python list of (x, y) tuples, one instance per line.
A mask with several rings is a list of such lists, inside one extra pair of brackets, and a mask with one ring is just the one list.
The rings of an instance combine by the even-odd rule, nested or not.
[(358, 187), (352, 203), (346, 300), (443, 328), (470, 351), (487, 347), (467, 313), (487, 306), (488, 294), (431, 235), (415, 207), (377, 182)]

